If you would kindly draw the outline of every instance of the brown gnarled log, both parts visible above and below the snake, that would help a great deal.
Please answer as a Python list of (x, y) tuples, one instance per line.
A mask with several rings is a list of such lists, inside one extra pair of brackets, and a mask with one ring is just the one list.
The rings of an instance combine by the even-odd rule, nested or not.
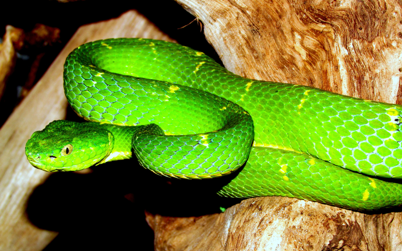
[[(402, 103), (396, 1), (176, 1), (239, 75)], [(402, 250), (400, 212), (368, 215), (291, 198), (247, 199), (202, 217), (147, 213), (147, 221), (156, 250)]]

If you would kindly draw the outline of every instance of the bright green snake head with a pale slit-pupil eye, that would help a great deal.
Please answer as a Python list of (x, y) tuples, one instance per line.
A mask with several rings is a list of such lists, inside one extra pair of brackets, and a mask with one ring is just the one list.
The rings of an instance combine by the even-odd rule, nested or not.
[(92, 122), (56, 120), (32, 134), (25, 154), (44, 171), (79, 171), (103, 161), (113, 146), (112, 133), (95, 128)]

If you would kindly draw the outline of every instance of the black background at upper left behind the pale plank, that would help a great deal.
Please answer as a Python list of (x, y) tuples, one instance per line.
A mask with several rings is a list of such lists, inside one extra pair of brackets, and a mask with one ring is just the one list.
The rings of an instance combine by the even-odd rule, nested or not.
[[(180, 5), (172, 0), (123, 1), (87, 0), (59, 3), (55, 0), (10, 1), (7, 8), (2, 6), (0, 15), (0, 38), (6, 25), (31, 31), (35, 24), (44, 24), (60, 29), (60, 43), (46, 48), (36, 74), (37, 82), (63, 49), (78, 27), (119, 17), (124, 12), (135, 9), (154, 23), (162, 32), (178, 43), (203, 51), (220, 62), (218, 55), (207, 42), (202, 25), (194, 21)], [(193, 22), (194, 21), (194, 22)], [(181, 29), (180, 29), (181, 28)], [(36, 50), (22, 50), (14, 74), (9, 78), (4, 98), (0, 101), (0, 126), (6, 121), (14, 107), (21, 101), (19, 88), (24, 85)], [(221, 62), (220, 62), (221, 63)]]

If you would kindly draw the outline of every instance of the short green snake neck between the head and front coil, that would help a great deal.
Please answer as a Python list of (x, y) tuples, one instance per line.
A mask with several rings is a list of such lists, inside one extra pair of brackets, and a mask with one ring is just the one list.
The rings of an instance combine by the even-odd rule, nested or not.
[(113, 124), (101, 124), (100, 127), (108, 130), (115, 138), (113, 150), (102, 162), (106, 163), (115, 160), (126, 160), (133, 156), (131, 138), (136, 132), (136, 127), (115, 126)]

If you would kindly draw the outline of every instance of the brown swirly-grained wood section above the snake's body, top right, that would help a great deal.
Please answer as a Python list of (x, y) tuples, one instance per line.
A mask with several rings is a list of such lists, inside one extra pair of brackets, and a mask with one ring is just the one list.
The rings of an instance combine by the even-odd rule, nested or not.
[(239, 75), (402, 103), (394, 0), (176, 0)]

